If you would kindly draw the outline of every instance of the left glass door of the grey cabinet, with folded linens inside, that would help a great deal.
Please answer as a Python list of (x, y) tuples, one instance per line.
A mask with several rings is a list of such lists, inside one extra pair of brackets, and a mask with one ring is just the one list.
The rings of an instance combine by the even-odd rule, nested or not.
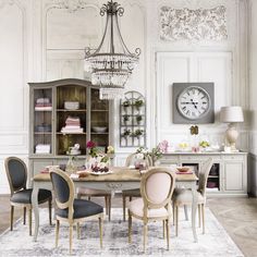
[(52, 89), (34, 90), (33, 152), (52, 154)]

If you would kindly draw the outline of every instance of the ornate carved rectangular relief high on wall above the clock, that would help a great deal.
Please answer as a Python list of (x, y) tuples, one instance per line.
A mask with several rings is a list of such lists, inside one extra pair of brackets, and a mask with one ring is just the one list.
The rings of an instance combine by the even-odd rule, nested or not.
[(219, 5), (211, 9), (188, 8), (160, 9), (160, 38), (176, 40), (227, 40), (227, 8)]

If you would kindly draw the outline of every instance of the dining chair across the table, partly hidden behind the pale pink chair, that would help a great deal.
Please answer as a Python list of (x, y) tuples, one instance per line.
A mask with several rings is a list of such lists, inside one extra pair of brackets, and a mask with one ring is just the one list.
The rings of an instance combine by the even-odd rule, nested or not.
[[(125, 162), (126, 167), (134, 166), (136, 155), (137, 154), (134, 152), (134, 154), (131, 154), (130, 156), (127, 156), (126, 162)], [(147, 167), (152, 166), (152, 160), (149, 156), (146, 157), (145, 162), (146, 162)], [(127, 189), (127, 191), (122, 192), (123, 220), (124, 221), (126, 219), (126, 197), (128, 197), (130, 201), (133, 199), (133, 197), (140, 197), (140, 189), (139, 188), (138, 189)]]

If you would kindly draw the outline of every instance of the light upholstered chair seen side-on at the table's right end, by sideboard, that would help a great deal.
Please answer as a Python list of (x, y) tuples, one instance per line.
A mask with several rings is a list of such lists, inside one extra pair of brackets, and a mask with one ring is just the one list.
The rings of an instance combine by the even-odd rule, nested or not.
[[(203, 234), (205, 233), (205, 205), (206, 205), (206, 185), (208, 175), (210, 173), (211, 167), (213, 164), (213, 159), (209, 158), (206, 160), (198, 174), (198, 189), (196, 193), (196, 201), (198, 206), (198, 219), (199, 227), (200, 220), (203, 224)], [(175, 235), (179, 234), (179, 207), (184, 206), (185, 215), (187, 217), (186, 206), (192, 205), (192, 191), (185, 188), (175, 188), (172, 196), (172, 207), (173, 207), (173, 223), (175, 223)], [(200, 219), (201, 217), (201, 219)]]

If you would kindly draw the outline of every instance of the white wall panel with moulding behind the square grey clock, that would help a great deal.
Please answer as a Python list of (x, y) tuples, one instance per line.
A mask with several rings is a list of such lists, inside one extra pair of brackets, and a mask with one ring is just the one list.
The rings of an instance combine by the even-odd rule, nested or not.
[[(213, 82), (213, 124), (199, 125), (200, 135), (216, 137), (212, 143), (222, 143), (224, 124), (219, 122), (220, 107), (231, 105), (232, 94), (231, 52), (159, 52), (157, 53), (157, 138), (174, 143), (188, 140), (189, 125), (174, 124), (172, 98), (174, 82)], [(194, 124), (194, 122), (193, 122)], [(197, 124), (197, 122), (196, 122)], [(221, 136), (221, 138), (218, 138)]]

